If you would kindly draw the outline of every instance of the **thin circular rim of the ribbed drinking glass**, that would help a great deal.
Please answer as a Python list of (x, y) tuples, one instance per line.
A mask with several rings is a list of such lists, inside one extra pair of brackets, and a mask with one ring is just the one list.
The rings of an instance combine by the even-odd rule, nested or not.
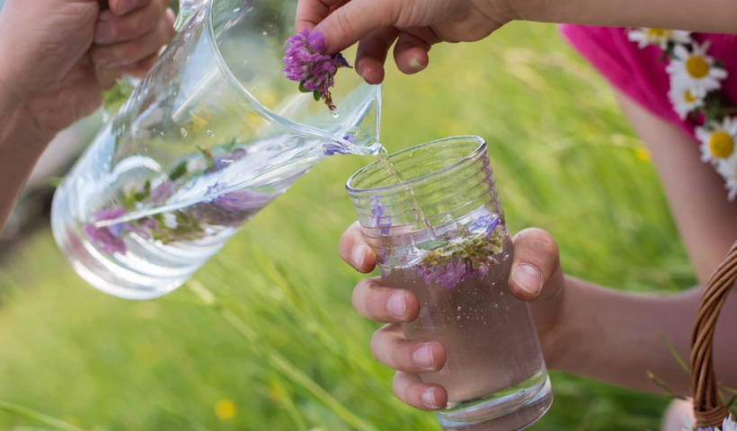
[(483, 137), (474, 136), (474, 135), (461, 135), (461, 136), (444, 137), (442, 139), (436, 139), (434, 141), (425, 142), (423, 144), (413, 145), (409, 148), (405, 148), (404, 150), (398, 151), (394, 154), (389, 154), (389, 157), (391, 158), (391, 157), (395, 157), (401, 154), (406, 154), (406, 153), (410, 153), (413, 151), (417, 151), (418, 149), (425, 147), (425, 146), (429, 146), (429, 145), (438, 145), (444, 142), (459, 141), (459, 140), (475, 141), (476, 143), (478, 143), (478, 146), (476, 146), (475, 150), (472, 151), (471, 153), (466, 154), (465, 156), (458, 159), (456, 162), (448, 164), (448, 166), (444, 166), (440, 168), (438, 171), (433, 171), (433, 172), (421, 175), (419, 177), (412, 178), (410, 180), (405, 180), (405, 181), (402, 181), (396, 184), (389, 184), (389, 185), (381, 186), (381, 187), (361, 189), (361, 188), (351, 186), (351, 183), (355, 182), (355, 180), (359, 178), (361, 175), (365, 174), (369, 170), (375, 169), (377, 167), (377, 164), (380, 163), (379, 161), (376, 161), (373, 163), (369, 163), (368, 165), (362, 167), (357, 172), (353, 173), (353, 175), (351, 175), (351, 178), (349, 178), (346, 181), (345, 189), (348, 191), (348, 193), (356, 194), (356, 195), (363, 195), (367, 193), (376, 193), (378, 191), (386, 191), (390, 189), (395, 189), (397, 186), (400, 186), (400, 187), (410, 186), (411, 187), (413, 184), (422, 182), (424, 180), (429, 180), (432, 177), (435, 177), (443, 172), (448, 172), (450, 170), (456, 169), (459, 165), (466, 163), (468, 161), (474, 160), (476, 156), (478, 156), (479, 154), (483, 154), (486, 151), (486, 141), (484, 140)]

